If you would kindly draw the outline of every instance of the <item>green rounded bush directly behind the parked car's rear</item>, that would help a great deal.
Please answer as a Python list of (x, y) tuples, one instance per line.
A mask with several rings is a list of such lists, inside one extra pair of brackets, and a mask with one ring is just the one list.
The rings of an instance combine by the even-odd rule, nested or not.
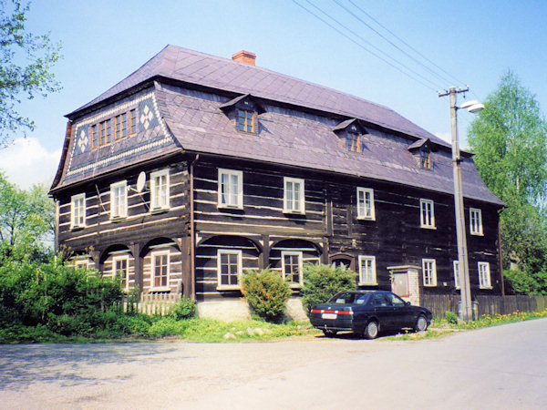
[(332, 267), (324, 264), (304, 264), (304, 286), (302, 304), (309, 313), (317, 303), (323, 303), (337, 292), (356, 289), (356, 273), (345, 266)]

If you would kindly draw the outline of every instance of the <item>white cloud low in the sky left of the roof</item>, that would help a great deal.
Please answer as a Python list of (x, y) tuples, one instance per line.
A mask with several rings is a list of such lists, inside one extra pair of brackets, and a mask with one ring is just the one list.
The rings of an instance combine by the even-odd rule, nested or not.
[(37, 138), (18, 138), (5, 149), (0, 149), (0, 169), (7, 179), (24, 190), (36, 183), (51, 184), (61, 149), (48, 152)]

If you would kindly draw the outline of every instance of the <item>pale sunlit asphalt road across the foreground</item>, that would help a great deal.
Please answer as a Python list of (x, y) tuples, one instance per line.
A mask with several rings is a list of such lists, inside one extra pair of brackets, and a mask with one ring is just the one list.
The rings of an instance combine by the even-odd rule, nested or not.
[(0, 345), (1, 408), (545, 408), (547, 319), (390, 342)]

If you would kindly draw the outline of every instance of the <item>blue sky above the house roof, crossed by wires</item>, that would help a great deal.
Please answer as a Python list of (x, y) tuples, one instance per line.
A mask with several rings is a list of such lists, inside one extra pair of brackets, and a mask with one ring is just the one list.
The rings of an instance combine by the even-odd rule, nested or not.
[[(36, 34), (50, 32), (54, 41), (63, 43), (64, 58), (54, 71), (64, 88), (21, 106), (21, 113), (36, 121), (36, 130), (0, 150), (0, 169), (22, 187), (48, 182), (65, 137), (63, 116), (127, 77), (168, 44), (227, 58), (241, 49), (252, 51), (258, 66), (385, 105), (441, 137), (449, 135), (449, 101), (439, 98), (437, 91), (468, 85), (468, 98), (484, 99), (508, 69), (536, 95), (543, 112), (547, 109), (547, 2), (351, 1), (449, 73), (441, 73), (448, 78), (432, 76), (337, 4), (387, 36), (350, 0), (35, 0), (27, 28)], [(316, 5), (348, 27), (353, 34), (347, 36), (363, 45), (365, 39), (426, 77), (420, 81), (427, 87), (296, 3), (327, 19)], [(411, 53), (398, 41), (397, 45)], [(471, 119), (461, 112), (460, 137), (465, 137)]]

